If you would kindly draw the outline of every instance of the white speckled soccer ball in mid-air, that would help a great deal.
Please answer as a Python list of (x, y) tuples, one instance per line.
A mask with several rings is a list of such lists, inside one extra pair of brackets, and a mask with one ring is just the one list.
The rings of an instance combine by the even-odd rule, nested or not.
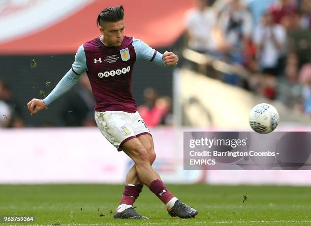
[(268, 134), (275, 130), (279, 115), (272, 105), (262, 103), (251, 110), (248, 121), (255, 132)]

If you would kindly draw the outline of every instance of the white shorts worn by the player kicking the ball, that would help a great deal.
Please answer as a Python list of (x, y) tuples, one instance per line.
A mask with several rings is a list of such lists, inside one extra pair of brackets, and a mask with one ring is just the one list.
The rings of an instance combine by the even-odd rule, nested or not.
[(118, 151), (122, 145), (133, 138), (143, 134), (150, 134), (150, 130), (136, 111), (128, 113), (124, 111), (95, 112), (95, 121), (104, 137), (115, 146)]

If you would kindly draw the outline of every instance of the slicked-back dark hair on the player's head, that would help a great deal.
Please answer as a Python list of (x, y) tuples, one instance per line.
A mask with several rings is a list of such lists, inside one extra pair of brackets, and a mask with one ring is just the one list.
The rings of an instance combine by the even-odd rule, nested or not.
[(107, 7), (97, 17), (97, 25), (103, 22), (118, 22), (123, 19), (124, 9), (122, 5), (116, 7)]

